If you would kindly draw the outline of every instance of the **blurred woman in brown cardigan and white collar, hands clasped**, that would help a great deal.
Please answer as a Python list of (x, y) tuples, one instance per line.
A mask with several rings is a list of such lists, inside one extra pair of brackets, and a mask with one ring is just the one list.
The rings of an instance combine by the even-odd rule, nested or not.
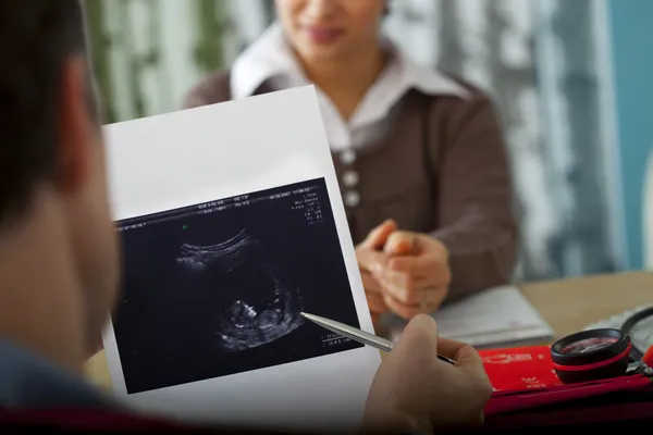
[(383, 37), (385, 1), (275, 4), (279, 22), (185, 107), (316, 85), (374, 319), (509, 282), (518, 231), (488, 97)]

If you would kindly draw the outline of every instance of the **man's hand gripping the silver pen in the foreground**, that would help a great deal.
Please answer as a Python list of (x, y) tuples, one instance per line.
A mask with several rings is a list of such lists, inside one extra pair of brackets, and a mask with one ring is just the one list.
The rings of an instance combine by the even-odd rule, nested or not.
[[(438, 353), (456, 360), (442, 362)], [(366, 407), (366, 424), (432, 432), (483, 422), (492, 385), (470, 346), (439, 339), (435, 321), (418, 315), (379, 368)]]

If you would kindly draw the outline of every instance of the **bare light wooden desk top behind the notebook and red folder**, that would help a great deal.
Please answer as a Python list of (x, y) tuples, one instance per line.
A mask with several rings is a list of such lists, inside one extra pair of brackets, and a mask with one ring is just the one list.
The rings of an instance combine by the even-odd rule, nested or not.
[[(557, 336), (643, 304), (653, 303), (653, 272), (600, 275), (518, 286)], [(86, 364), (88, 380), (110, 389), (104, 352)]]

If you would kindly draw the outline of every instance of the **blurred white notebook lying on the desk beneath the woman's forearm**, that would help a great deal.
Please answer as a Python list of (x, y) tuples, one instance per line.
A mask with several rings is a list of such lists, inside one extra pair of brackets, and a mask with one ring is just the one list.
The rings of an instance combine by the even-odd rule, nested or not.
[[(433, 318), (440, 336), (479, 349), (545, 344), (554, 337), (551, 326), (515, 286), (481, 291), (443, 308)], [(396, 340), (406, 321), (387, 316), (382, 325)]]

